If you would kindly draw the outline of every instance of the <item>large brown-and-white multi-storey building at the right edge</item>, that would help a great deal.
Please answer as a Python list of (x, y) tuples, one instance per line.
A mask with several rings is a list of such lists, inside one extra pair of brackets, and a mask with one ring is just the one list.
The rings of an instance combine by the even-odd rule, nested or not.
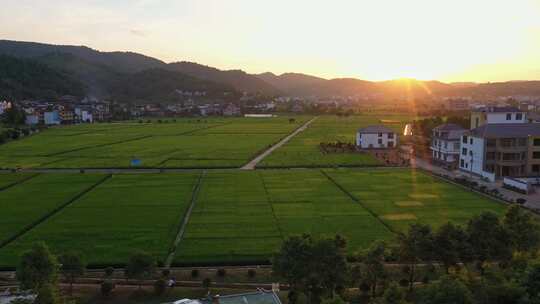
[(459, 168), (490, 180), (540, 176), (540, 124), (484, 124), (461, 139)]

